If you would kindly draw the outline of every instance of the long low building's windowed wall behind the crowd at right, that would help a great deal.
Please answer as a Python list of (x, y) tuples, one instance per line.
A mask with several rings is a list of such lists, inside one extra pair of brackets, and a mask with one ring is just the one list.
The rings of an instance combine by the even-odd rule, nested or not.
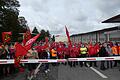
[(86, 34), (74, 35), (71, 37), (72, 42), (120, 42), (120, 30), (97, 31)]

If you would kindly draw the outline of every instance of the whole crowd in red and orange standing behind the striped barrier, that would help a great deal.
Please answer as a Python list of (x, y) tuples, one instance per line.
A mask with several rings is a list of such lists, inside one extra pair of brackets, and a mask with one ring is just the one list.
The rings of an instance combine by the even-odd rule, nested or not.
[[(104, 43), (74, 43), (70, 46), (64, 42), (52, 42), (45, 46), (45, 42), (36, 42), (24, 56), (26, 59), (68, 59), (68, 58), (86, 58), (86, 57), (110, 57), (120, 55), (120, 43), (117, 42), (104, 42)], [(0, 44), (0, 59), (14, 59), (15, 47), (14, 44)], [(65, 62), (64, 65), (98, 67), (97, 61), (74, 61)], [(100, 69), (106, 70), (107, 68), (116, 67), (119, 61), (101, 61)], [(88, 66), (89, 64), (89, 66)], [(27, 64), (30, 71), (36, 68), (37, 64)], [(57, 63), (52, 63), (56, 66)], [(107, 66), (105, 66), (107, 65)], [(49, 72), (49, 64), (44, 64), (45, 72)], [(14, 64), (0, 64), (0, 77), (14, 74)]]

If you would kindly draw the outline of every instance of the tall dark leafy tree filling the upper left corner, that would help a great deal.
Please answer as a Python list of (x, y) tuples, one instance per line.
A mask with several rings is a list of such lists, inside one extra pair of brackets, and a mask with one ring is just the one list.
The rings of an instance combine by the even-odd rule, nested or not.
[(0, 33), (11, 31), (13, 41), (18, 39), (20, 32), (26, 31), (26, 28), (22, 27), (18, 20), (19, 7), (20, 4), (17, 0), (0, 0)]

